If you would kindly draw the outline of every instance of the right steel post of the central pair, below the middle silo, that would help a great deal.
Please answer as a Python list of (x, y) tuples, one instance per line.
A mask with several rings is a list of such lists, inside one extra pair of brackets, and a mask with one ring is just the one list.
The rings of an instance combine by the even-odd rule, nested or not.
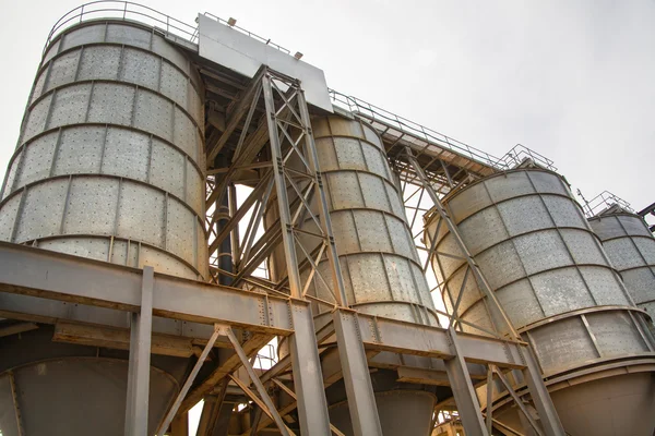
[(382, 436), (378, 405), (368, 361), (359, 334), (357, 314), (336, 310), (332, 313), (341, 358), (353, 432), (356, 436)]

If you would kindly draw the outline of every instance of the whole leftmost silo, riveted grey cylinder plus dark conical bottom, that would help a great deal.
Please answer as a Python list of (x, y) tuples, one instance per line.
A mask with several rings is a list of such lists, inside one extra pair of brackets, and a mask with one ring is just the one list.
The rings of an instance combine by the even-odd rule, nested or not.
[[(201, 86), (152, 27), (102, 20), (59, 34), (2, 185), (0, 239), (204, 279)], [(72, 310), (93, 322), (88, 307)], [(2, 435), (122, 434), (127, 351), (51, 339), (45, 325), (0, 339), (0, 404), (14, 388), (24, 427), (0, 413)], [(189, 361), (151, 362), (153, 434)]]

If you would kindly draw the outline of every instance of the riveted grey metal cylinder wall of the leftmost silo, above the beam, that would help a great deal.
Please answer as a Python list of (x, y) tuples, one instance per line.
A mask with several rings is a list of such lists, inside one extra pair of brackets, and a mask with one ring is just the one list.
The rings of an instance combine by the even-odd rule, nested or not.
[(60, 35), (7, 171), (0, 240), (206, 277), (199, 83), (152, 28), (90, 22)]

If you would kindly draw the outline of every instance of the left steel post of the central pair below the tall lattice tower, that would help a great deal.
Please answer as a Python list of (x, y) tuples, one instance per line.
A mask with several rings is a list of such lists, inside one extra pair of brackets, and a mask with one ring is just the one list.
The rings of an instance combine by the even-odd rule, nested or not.
[(289, 351), (300, 434), (330, 436), (330, 415), (311, 308), (307, 303), (291, 301), (289, 304), (294, 326), (294, 335), (289, 337)]

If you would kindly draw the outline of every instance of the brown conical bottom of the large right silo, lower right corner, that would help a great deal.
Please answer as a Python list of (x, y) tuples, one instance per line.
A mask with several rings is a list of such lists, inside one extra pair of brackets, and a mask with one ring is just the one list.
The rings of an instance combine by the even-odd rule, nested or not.
[[(594, 375), (588, 377), (593, 378)], [(581, 382), (550, 392), (567, 435), (653, 435), (655, 429), (655, 375), (653, 373), (629, 373)], [(508, 404), (495, 411), (493, 417), (526, 434), (519, 414), (513, 404)]]

